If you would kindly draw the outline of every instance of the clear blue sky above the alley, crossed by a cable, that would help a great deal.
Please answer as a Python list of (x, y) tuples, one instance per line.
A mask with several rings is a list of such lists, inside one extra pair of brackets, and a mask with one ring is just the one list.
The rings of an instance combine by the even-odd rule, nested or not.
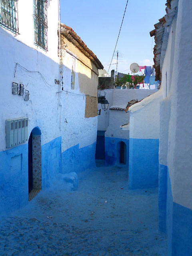
[[(60, 0), (61, 22), (70, 26), (108, 71), (127, 0)], [(166, 0), (129, 0), (116, 50), (118, 71), (130, 64), (152, 66), (154, 38), (149, 32), (165, 14)], [(116, 58), (116, 57), (115, 57)], [(115, 63), (114, 60), (112, 63)], [(116, 69), (112, 65), (111, 69)]]

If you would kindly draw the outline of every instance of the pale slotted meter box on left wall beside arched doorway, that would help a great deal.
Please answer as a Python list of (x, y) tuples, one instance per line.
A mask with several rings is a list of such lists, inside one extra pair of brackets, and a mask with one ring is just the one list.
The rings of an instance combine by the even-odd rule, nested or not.
[(28, 140), (28, 118), (6, 120), (6, 148), (12, 148)]

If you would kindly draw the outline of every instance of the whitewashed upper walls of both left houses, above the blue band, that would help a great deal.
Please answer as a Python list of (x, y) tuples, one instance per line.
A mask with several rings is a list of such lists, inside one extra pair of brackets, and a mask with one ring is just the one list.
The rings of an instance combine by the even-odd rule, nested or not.
[[(62, 135), (62, 151), (76, 144), (80, 144), (80, 148), (88, 146), (96, 141), (97, 117), (84, 118), (86, 98), (79, 90), (77, 63), (75, 90), (71, 90), (70, 54), (66, 53), (63, 63), (64, 90), (81, 95), (57, 93), (61, 86), (54, 83), (54, 79), (60, 80), (58, 0), (48, 1), (48, 52), (34, 45), (33, 1), (29, 2), (26, 11), (25, 1), (18, 1), (18, 36), (0, 27), (0, 55), (4, 59), (1, 62), (4, 111), (0, 112), (3, 120), (0, 122), (0, 150), (6, 150), (5, 120), (22, 116), (29, 118), (29, 135), (35, 126), (40, 128), (42, 145)], [(22, 83), (29, 90), (28, 102), (11, 93), (12, 82)]]

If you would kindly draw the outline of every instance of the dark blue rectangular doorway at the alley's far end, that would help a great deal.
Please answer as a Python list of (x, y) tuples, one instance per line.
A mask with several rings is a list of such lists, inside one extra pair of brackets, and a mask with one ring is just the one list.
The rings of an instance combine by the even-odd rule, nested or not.
[(105, 159), (105, 132), (106, 131), (97, 131), (95, 159)]

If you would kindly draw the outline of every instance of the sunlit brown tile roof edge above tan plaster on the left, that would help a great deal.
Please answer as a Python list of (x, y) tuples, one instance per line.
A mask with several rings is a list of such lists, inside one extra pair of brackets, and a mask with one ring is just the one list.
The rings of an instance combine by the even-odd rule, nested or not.
[(98, 60), (97, 56), (87, 47), (81, 38), (72, 30), (72, 28), (61, 23), (61, 34), (63, 34), (72, 44), (74, 44), (83, 54), (92, 60), (98, 69), (103, 69), (103, 65)]

